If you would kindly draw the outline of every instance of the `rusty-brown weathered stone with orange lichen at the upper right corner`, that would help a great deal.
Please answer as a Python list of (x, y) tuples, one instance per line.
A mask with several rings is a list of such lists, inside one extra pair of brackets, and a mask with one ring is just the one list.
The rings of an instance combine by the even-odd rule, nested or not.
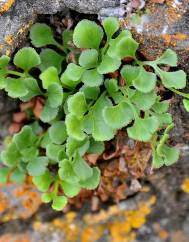
[(124, 19), (141, 44), (142, 54), (149, 60), (171, 48), (179, 64), (189, 73), (189, 1), (169, 0), (163, 4), (148, 1), (143, 14), (133, 13)]

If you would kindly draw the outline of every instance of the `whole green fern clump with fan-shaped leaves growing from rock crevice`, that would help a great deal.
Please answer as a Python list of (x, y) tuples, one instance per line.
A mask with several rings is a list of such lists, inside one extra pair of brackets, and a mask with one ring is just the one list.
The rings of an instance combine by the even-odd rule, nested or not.
[[(80, 21), (73, 32), (63, 32), (62, 43), (49, 26), (37, 23), (30, 38), (35, 48), (42, 47), (40, 54), (31, 47), (20, 49), (13, 58), (14, 70), (10, 58), (2, 56), (0, 87), (23, 102), (42, 97), (41, 127), (31, 122), (12, 137), (1, 153), (5, 165), (1, 182), (7, 176), (22, 182), (29, 174), (43, 192), (42, 200), (61, 210), (81, 188), (98, 186), (99, 168), (83, 157), (103, 153), (104, 142), (119, 129), (131, 139), (151, 144), (154, 168), (177, 161), (178, 149), (167, 143), (174, 126), (169, 102), (158, 91), (164, 86), (183, 96), (189, 111), (189, 94), (179, 91), (186, 86), (186, 74), (162, 68), (177, 66), (175, 52), (167, 49), (154, 61), (139, 60), (139, 44), (129, 31), (120, 30), (113, 17), (102, 26)], [(111, 78), (116, 71), (118, 78)]]

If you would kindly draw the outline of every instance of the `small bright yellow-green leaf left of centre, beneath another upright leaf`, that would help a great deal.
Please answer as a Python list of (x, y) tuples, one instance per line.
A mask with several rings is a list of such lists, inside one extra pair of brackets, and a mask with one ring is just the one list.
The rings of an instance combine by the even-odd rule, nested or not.
[(66, 116), (66, 129), (69, 136), (76, 140), (84, 140), (86, 135), (83, 132), (83, 123), (82, 120), (78, 119), (73, 114), (68, 114)]

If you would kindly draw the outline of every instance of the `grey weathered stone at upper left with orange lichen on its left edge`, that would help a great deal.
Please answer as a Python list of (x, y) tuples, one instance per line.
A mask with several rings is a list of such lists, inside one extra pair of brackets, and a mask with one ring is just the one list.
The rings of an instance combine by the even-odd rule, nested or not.
[(1, 0), (0, 54), (9, 55), (19, 46), (38, 14), (55, 14), (68, 8), (98, 14), (100, 9), (115, 7), (118, 3), (117, 0)]

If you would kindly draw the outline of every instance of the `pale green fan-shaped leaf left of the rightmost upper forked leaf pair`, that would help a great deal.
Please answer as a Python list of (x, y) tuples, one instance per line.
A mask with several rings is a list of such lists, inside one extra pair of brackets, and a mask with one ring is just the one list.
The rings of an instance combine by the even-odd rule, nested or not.
[(156, 86), (156, 75), (140, 67), (138, 76), (133, 80), (133, 86), (143, 93), (151, 92)]

